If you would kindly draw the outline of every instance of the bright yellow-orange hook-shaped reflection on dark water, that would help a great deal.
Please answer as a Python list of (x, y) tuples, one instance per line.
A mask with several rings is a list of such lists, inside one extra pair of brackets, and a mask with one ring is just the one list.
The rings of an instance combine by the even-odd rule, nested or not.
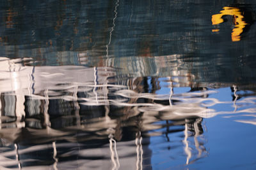
[[(220, 11), (220, 13), (212, 15), (212, 25), (221, 24), (222, 22), (224, 22), (222, 18), (224, 15), (232, 15), (234, 17), (235, 27), (232, 30), (231, 38), (232, 38), (232, 41), (240, 41), (241, 39), (240, 34), (242, 34), (245, 25), (247, 25), (246, 22), (244, 22), (243, 20), (244, 18), (243, 14), (239, 10), (239, 8), (225, 6), (223, 10)], [(212, 30), (212, 32), (218, 32), (218, 31), (219, 31), (218, 29)]]

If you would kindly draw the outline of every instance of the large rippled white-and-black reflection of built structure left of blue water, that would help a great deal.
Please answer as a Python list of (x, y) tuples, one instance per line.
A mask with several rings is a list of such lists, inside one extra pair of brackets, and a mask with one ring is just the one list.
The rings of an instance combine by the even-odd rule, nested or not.
[[(122, 70), (111, 67), (26, 66), (30, 60), (2, 57), (0, 61), (1, 145), (15, 143), (14, 151), (6, 150), (1, 157), (9, 157), (13, 153), (17, 156), (12, 163), (8, 162), (9, 166), (6, 162), (1, 162), (1, 166), (32, 168), (36, 164), (26, 158), (28, 152), (33, 157), (40, 150), (53, 150), (49, 164), (56, 168), (66, 167), (68, 165), (62, 161), (65, 154), (61, 153), (72, 146), (77, 150), (68, 156), (69, 163), (76, 166), (99, 166), (99, 161), (102, 161), (109, 167), (125, 168), (132, 164), (134, 169), (142, 169), (150, 164), (147, 136), (157, 134), (147, 132), (166, 127), (164, 133), (168, 139), (168, 133), (172, 133), (168, 129), (175, 125), (185, 125), (181, 130), (185, 133), (183, 143), (187, 160), (184, 162), (188, 163), (193, 157), (188, 143), (189, 131), (195, 132), (192, 134), (195, 136), (195, 150), (198, 150), (198, 155), (202, 154), (202, 146), (196, 142), (202, 134), (202, 118), (196, 118), (196, 114), (207, 110), (197, 104), (174, 104), (170, 108), (170, 101), (175, 101), (169, 101), (168, 94), (164, 98), (155, 94), (161, 88), (157, 78), (131, 78), (122, 74)], [(147, 64), (138, 63), (140, 66)], [(173, 76), (180, 73), (183, 72), (172, 72)], [(177, 81), (177, 86), (191, 85), (188, 75), (185, 74), (180, 83)], [(175, 81), (175, 78), (170, 80)], [(191, 107), (192, 114), (179, 115)], [(159, 120), (166, 121), (166, 124), (154, 125)], [(76, 146), (76, 142), (81, 146)], [(40, 149), (33, 146), (22, 148), (22, 143), (40, 145)], [(89, 149), (85, 146), (89, 143), (95, 143), (95, 146)], [(100, 154), (105, 159), (77, 164), (83, 157), (97, 158)], [(74, 155), (79, 155), (79, 158), (72, 158)]]

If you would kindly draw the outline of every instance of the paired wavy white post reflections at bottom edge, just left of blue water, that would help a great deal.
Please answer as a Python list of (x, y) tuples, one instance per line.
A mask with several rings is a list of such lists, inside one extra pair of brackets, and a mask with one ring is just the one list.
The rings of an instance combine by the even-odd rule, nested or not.
[(142, 166), (143, 148), (142, 148), (141, 132), (138, 132), (136, 134), (135, 145), (136, 145), (136, 153), (137, 153), (136, 170), (143, 169), (143, 166)]

